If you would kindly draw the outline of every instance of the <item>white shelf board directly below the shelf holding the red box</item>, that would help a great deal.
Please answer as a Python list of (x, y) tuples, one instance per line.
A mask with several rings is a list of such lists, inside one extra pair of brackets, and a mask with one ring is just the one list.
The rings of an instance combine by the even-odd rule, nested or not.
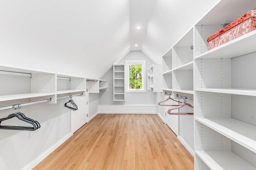
[(246, 88), (196, 88), (196, 91), (256, 96), (256, 89)]

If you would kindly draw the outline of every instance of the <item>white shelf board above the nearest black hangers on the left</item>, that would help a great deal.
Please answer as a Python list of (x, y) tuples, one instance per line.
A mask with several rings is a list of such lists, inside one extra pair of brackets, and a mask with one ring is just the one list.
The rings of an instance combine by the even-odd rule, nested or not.
[(0, 102), (8, 101), (8, 100), (18, 100), (18, 99), (26, 99), (26, 98), (36, 98), (42, 96), (52, 96), (55, 93), (26, 93), (26, 94), (14, 94), (7, 96), (0, 96)]

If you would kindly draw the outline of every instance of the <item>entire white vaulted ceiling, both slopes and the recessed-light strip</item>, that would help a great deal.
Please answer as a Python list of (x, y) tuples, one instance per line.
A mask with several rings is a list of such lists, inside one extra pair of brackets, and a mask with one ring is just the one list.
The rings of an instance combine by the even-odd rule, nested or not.
[(130, 51), (160, 63), (218, 1), (1, 0), (1, 63), (94, 78)]

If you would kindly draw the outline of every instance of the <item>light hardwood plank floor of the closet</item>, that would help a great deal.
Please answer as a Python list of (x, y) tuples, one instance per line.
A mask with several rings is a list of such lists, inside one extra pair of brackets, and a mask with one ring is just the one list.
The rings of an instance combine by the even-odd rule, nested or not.
[(34, 170), (192, 170), (194, 158), (152, 114), (98, 114)]

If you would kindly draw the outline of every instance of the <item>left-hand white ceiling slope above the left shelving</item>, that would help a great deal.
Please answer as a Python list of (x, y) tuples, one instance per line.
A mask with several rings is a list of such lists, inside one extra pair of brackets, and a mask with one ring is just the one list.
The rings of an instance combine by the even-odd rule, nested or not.
[(129, 0), (0, 0), (1, 64), (101, 78), (130, 52)]

